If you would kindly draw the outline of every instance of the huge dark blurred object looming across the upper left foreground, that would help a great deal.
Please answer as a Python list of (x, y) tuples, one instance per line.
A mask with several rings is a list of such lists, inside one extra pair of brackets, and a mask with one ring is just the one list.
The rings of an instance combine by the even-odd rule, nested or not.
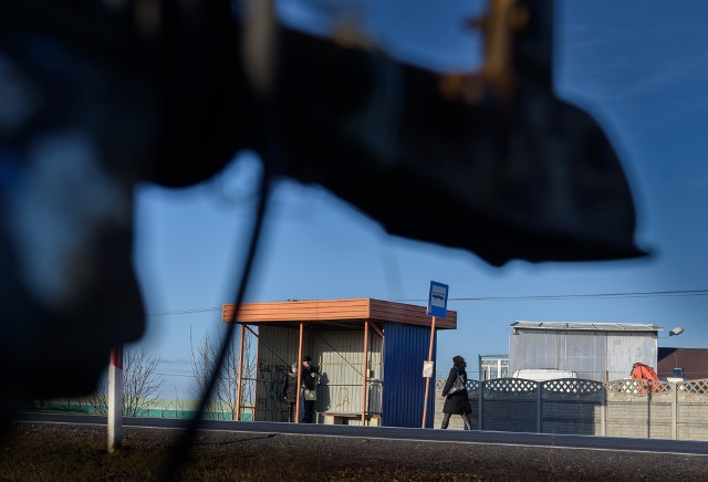
[[(550, 1), (493, 0), (476, 75), (269, 31), (231, 9), (0, 0), (2, 421), (91, 391), (110, 348), (140, 337), (135, 184), (199, 182), (239, 149), (392, 234), (494, 265), (642, 254), (612, 146), (553, 94)], [(242, 52), (259, 60), (269, 39), (256, 75)]]

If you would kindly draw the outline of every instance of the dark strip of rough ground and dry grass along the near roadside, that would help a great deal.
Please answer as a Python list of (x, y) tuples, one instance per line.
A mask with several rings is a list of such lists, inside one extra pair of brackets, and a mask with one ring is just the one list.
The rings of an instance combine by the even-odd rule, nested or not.
[[(179, 431), (18, 423), (0, 480), (159, 480)], [(199, 432), (184, 480), (708, 481), (708, 458), (266, 433)]]

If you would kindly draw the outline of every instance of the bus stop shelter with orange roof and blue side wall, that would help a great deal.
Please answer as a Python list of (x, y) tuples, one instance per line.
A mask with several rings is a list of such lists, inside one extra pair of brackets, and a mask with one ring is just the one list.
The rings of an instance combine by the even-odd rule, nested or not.
[[(222, 321), (233, 318), (233, 304), (222, 307)], [(427, 397), (423, 362), (433, 360), (438, 329), (457, 328), (457, 313), (437, 318), (425, 306), (373, 298), (248, 303), (236, 323), (258, 339), (256, 377), (243, 377), (239, 362), (238, 400), (244, 383), (254, 384), (253, 420), (284, 421), (282, 388), (292, 363), (310, 355), (319, 367), (317, 422), (431, 427), (434, 392)], [(298, 412), (300, 412), (298, 397)], [(241, 407), (237, 408), (240, 418)]]

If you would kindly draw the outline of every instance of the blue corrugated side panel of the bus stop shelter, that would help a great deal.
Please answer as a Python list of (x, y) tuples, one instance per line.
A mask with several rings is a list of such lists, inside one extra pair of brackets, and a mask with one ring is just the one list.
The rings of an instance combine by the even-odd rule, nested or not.
[[(425, 398), (423, 362), (428, 359), (430, 328), (386, 323), (384, 342), (384, 388), (382, 426), (420, 428)], [(435, 346), (433, 359), (435, 359)], [(430, 379), (426, 427), (433, 428), (435, 416), (435, 378)]]

